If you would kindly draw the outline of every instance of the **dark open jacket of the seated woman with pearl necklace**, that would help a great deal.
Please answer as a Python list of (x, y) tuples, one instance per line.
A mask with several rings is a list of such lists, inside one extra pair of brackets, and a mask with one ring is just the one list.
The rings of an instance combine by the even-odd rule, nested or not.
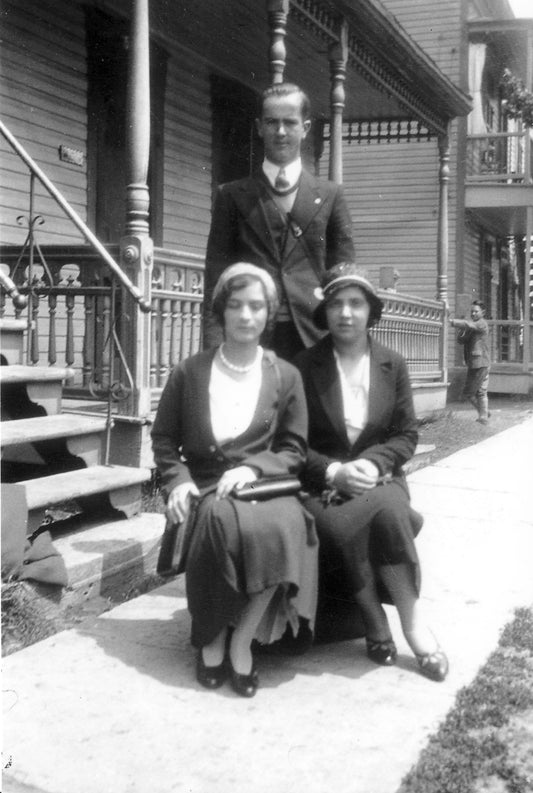
[(249, 465), (259, 476), (298, 473), (306, 455), (307, 409), (300, 375), (266, 351), (254, 418), (245, 432), (220, 446), (209, 413), (209, 379), (215, 350), (187, 358), (165, 386), (152, 428), (155, 463), (166, 496), (193, 480), (217, 482), (224, 471)]

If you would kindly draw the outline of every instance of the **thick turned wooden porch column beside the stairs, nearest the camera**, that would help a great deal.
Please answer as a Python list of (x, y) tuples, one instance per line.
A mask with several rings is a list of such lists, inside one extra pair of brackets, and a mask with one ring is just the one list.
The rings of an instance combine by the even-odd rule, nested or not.
[[(149, 236), (148, 158), (150, 152), (150, 30), (149, 0), (133, 0), (129, 41), (127, 91), (126, 227), (120, 241), (123, 269), (151, 301), (153, 243)], [(133, 392), (120, 404), (120, 412), (141, 420), (150, 414), (150, 314), (123, 294), (121, 342), (130, 369)], [(122, 381), (125, 378), (121, 372)], [(131, 464), (131, 463), (130, 463)]]

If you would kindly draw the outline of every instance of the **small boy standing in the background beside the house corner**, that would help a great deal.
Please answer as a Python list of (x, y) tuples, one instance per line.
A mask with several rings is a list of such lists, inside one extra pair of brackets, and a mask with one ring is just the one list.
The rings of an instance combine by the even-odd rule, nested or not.
[(463, 398), (470, 400), (478, 412), (480, 424), (489, 420), (489, 326), (485, 319), (485, 306), (474, 300), (470, 309), (471, 319), (450, 319), (452, 328), (459, 328), (457, 341), (464, 345), (467, 366)]

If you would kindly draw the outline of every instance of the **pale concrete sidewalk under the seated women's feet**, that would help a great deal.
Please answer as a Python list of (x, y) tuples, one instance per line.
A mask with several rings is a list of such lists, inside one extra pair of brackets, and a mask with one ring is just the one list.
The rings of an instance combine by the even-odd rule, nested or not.
[(444, 683), (364, 642), (259, 659), (252, 700), (194, 677), (181, 580), (4, 659), (5, 793), (395, 793), (533, 601), (533, 419), (409, 477)]

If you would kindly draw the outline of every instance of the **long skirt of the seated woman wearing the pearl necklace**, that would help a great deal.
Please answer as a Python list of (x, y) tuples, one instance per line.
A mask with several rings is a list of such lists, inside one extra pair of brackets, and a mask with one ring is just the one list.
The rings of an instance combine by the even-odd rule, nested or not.
[(256, 638), (276, 641), (298, 617), (314, 624), (318, 548), (314, 521), (298, 498), (264, 502), (213, 494), (199, 505), (186, 570), (195, 647), (235, 624), (253, 594), (278, 590)]

